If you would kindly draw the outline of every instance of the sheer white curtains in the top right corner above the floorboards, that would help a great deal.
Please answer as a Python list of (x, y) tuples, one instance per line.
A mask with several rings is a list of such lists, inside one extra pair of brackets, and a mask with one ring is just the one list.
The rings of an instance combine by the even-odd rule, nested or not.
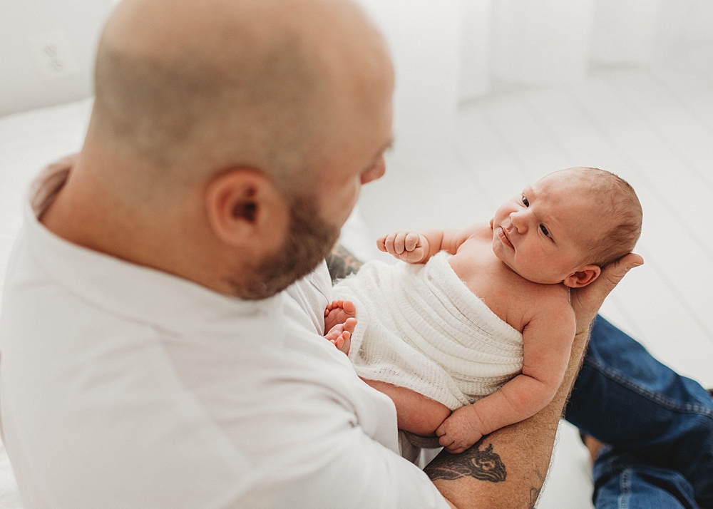
[(598, 66), (713, 72), (710, 0), (463, 0), (461, 31), (461, 101)]

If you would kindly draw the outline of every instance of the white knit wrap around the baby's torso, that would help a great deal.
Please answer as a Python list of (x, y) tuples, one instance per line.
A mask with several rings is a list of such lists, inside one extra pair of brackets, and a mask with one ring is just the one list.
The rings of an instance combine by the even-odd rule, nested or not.
[(451, 269), (445, 252), (423, 264), (364, 264), (334, 287), (356, 305), (349, 359), (367, 380), (406, 387), (451, 410), (493, 393), (523, 368), (523, 335)]

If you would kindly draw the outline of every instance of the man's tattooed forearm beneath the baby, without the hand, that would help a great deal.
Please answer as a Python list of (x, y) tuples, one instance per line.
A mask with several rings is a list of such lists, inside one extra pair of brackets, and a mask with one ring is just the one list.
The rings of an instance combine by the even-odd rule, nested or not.
[(565, 379), (534, 416), (485, 436), (461, 454), (442, 451), (426, 473), (458, 509), (533, 508), (545, 480), (563, 408), (589, 341), (575, 337)]

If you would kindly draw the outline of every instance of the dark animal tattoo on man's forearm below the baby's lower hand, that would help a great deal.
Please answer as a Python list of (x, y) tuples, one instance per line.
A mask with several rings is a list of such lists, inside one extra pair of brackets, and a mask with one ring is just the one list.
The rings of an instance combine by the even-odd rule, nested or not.
[(431, 480), (456, 480), (461, 477), (472, 477), (491, 483), (503, 482), (508, 477), (505, 463), (497, 453), (493, 452), (492, 443), (481, 450), (483, 438), (468, 451), (460, 454), (451, 454), (444, 449), (424, 471)]

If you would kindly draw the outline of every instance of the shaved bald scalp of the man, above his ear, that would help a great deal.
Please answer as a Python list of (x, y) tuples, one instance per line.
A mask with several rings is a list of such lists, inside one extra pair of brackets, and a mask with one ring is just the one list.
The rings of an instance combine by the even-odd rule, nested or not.
[(245, 165), (287, 189), (339, 143), (344, 108), (371, 113), (384, 69), (347, 1), (124, 0), (99, 45), (90, 131), (162, 188)]

